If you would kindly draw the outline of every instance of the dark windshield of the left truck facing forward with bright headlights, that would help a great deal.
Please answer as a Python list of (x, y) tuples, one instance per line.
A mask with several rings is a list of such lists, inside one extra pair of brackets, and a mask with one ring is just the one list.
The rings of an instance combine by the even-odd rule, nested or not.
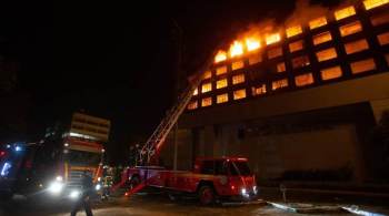
[(84, 152), (77, 150), (68, 150), (64, 160), (72, 165), (98, 165), (101, 161), (101, 154), (94, 152)]

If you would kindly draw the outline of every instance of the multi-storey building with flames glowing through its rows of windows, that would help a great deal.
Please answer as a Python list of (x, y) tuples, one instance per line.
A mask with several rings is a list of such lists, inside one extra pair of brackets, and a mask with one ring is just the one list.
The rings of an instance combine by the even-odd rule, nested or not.
[(343, 4), (220, 50), (179, 120), (178, 166), (241, 155), (262, 181), (379, 177), (388, 167), (370, 132), (389, 110), (388, 10)]

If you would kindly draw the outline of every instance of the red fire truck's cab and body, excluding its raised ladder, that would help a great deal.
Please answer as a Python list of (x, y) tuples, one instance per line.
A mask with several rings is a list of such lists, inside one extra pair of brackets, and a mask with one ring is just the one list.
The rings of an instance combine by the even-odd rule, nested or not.
[(160, 166), (138, 166), (127, 171), (129, 183), (167, 189), (170, 195), (197, 195), (203, 205), (217, 199), (251, 199), (258, 193), (247, 158), (199, 157), (193, 171), (169, 171)]

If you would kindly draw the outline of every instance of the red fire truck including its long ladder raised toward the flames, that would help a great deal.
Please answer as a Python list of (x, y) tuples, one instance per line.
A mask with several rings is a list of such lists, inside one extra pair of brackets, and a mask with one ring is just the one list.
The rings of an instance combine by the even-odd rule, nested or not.
[(248, 160), (243, 157), (198, 157), (192, 171), (171, 171), (152, 165), (158, 161), (159, 152), (169, 132), (203, 80), (203, 72), (213, 64), (215, 54), (216, 52), (189, 80), (189, 85), (179, 96), (178, 102), (148, 138), (139, 155), (140, 165), (126, 169), (121, 182), (114, 185), (112, 191), (123, 184), (130, 184), (130, 191), (126, 193), (129, 196), (144, 186), (152, 186), (166, 189), (170, 195), (196, 195), (203, 205), (223, 198), (249, 200), (257, 196), (255, 175), (250, 172)]

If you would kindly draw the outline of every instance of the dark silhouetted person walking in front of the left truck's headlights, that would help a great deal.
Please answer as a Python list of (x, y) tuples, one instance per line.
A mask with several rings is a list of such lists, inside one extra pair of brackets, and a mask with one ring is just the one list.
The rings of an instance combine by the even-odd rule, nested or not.
[(81, 207), (86, 209), (87, 216), (93, 216), (92, 209), (90, 208), (90, 198), (92, 196), (93, 191), (93, 181), (92, 177), (87, 174), (87, 171), (82, 174), (82, 193), (78, 200), (73, 204), (71, 209), (71, 216), (76, 216), (77, 212), (80, 210)]

